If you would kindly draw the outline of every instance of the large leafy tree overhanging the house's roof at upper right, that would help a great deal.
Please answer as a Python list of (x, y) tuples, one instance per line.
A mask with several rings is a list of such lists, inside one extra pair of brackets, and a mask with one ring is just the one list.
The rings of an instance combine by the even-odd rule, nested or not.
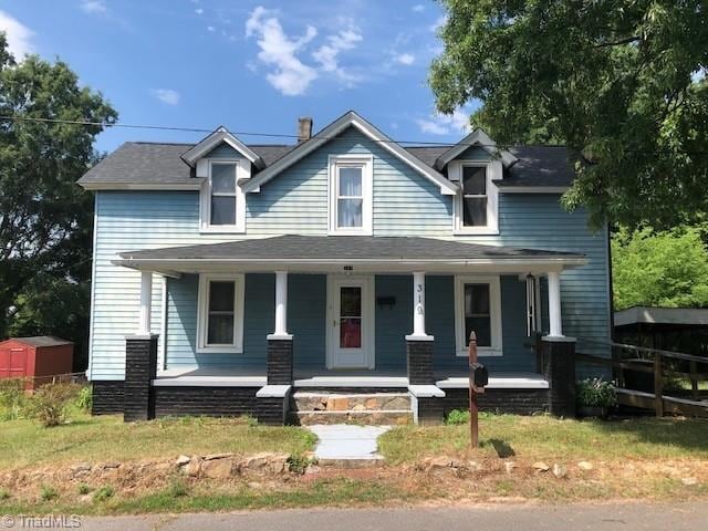
[(568, 208), (593, 226), (668, 228), (708, 211), (704, 0), (440, 0), (429, 82), (440, 112), (470, 100), (498, 142), (560, 142)]

